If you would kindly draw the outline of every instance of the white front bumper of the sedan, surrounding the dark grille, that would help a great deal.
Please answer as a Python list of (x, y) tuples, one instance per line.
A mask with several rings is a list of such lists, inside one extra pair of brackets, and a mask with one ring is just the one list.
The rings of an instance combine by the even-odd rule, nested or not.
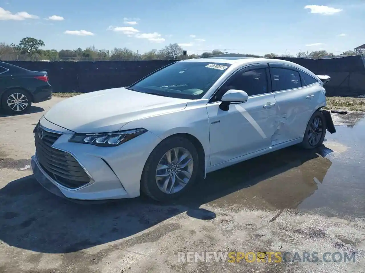
[[(50, 125), (47, 120), (42, 118), (40, 123), (45, 130), (55, 132), (54, 124), (52, 129), (47, 129), (47, 125)], [(43, 187), (58, 196), (80, 200), (139, 196), (143, 167), (151, 151), (161, 141), (160, 138), (146, 132), (120, 146), (97, 147), (68, 142), (72, 134), (61, 127), (57, 129), (62, 135), (53, 143), (52, 148), (72, 155), (89, 175), (90, 182), (76, 189), (61, 185), (42, 167), (36, 152), (31, 167), (35, 178)]]

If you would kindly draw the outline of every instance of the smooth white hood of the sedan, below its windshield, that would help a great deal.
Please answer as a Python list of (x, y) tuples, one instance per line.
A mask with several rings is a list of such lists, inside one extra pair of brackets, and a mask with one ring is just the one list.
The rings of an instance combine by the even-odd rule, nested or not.
[(183, 110), (188, 101), (113, 88), (62, 100), (44, 117), (74, 132), (112, 132), (132, 120)]

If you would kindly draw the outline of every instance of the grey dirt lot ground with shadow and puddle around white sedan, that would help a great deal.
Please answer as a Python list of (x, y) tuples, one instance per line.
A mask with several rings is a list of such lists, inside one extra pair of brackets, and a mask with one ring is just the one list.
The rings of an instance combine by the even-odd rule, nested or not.
[[(90, 203), (47, 192), (29, 168), (32, 130), (62, 99), (0, 117), (1, 273), (365, 271), (365, 113), (334, 115), (337, 133), (316, 151), (290, 147), (216, 171), (169, 205)], [(266, 262), (208, 253), (213, 262), (187, 263), (186, 252), (265, 252)]]

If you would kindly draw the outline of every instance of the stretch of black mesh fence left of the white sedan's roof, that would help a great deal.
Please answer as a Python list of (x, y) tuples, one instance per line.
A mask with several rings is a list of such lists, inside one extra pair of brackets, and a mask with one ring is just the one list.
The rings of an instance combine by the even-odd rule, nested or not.
[(53, 92), (92, 92), (128, 86), (175, 61), (23, 62), (8, 63), (33, 71), (47, 71)]

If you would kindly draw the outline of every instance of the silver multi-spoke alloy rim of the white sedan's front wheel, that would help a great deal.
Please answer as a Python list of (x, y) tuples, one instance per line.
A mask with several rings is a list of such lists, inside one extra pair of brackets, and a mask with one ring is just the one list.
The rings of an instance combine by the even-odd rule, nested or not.
[(194, 161), (191, 153), (182, 147), (169, 150), (158, 162), (156, 183), (167, 194), (177, 193), (190, 181)]

